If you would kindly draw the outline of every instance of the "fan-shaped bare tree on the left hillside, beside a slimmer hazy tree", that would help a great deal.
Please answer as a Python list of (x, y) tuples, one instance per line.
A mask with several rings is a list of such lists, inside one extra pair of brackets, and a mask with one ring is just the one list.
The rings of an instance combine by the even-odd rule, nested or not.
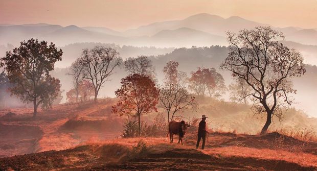
[(80, 57), (80, 64), (84, 66), (84, 79), (89, 79), (95, 89), (95, 102), (100, 88), (114, 74), (114, 69), (120, 66), (122, 59), (112, 47), (95, 46), (84, 49)]

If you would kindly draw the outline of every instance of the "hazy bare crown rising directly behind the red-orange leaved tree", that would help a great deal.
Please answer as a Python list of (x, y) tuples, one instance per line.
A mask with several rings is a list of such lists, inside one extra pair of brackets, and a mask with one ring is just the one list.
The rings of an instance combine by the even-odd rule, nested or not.
[(146, 76), (154, 75), (154, 67), (152, 61), (146, 56), (138, 56), (137, 58), (128, 58), (123, 63), (124, 69), (130, 74), (140, 74)]

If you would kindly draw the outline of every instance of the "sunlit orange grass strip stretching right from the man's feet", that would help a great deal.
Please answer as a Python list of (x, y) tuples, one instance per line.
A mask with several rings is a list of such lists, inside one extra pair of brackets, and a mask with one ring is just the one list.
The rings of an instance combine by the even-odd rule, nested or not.
[(317, 156), (307, 153), (291, 153), (283, 150), (253, 149), (239, 146), (227, 146), (223, 148), (211, 148), (202, 151), (208, 155), (218, 157), (252, 157), (269, 160), (284, 160), (298, 163), (303, 166), (317, 166)]

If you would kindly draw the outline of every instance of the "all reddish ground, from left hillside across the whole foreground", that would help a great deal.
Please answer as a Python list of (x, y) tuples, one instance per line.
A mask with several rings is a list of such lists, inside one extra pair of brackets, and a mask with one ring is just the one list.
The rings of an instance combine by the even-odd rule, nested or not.
[(317, 143), (279, 133), (211, 131), (203, 151), (194, 149), (195, 125), (184, 145), (122, 139), (114, 101), (57, 105), (36, 118), (30, 108), (0, 110), (0, 170), (317, 170)]

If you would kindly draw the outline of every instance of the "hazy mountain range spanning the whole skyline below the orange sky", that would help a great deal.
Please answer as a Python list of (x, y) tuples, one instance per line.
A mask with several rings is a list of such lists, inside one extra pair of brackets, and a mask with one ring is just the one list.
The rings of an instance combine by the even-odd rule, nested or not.
[[(253, 29), (256, 26), (269, 26), (238, 16), (223, 18), (217, 15), (201, 13), (181, 20), (155, 22), (137, 29), (118, 32), (104, 27), (77, 27), (35, 23), (26, 25), (0, 25), (0, 45), (38, 38), (63, 46), (76, 42), (116, 43), (120, 45), (191, 47), (228, 45), (225, 32), (238, 32)], [(272, 27), (272, 26), (271, 26)], [(305, 30), (297, 27), (277, 28), (286, 36), (286, 40), (302, 44), (317, 45), (317, 30)]]

